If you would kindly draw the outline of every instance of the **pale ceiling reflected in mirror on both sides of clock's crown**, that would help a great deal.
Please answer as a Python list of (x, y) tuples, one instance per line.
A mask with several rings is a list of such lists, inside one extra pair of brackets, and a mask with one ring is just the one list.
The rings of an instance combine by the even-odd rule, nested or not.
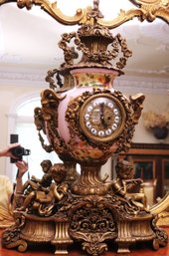
[[(58, 47), (61, 34), (77, 30), (76, 26), (64, 26), (55, 21), (40, 7), (41, 15), (19, 9), (15, 4), (0, 7), (0, 80), (13, 80), (21, 76), (36, 76), (43, 81), (48, 70), (63, 63), (63, 53)], [(124, 69), (129, 80), (143, 83), (151, 81), (169, 89), (169, 26), (156, 20), (140, 23), (137, 19), (112, 30), (126, 38), (132, 57)], [(23, 77), (25, 76), (25, 77)], [(125, 80), (123, 76), (122, 80)], [(121, 80), (121, 81), (122, 81)], [(145, 83), (146, 84), (146, 83)], [(145, 85), (146, 87), (146, 85)]]

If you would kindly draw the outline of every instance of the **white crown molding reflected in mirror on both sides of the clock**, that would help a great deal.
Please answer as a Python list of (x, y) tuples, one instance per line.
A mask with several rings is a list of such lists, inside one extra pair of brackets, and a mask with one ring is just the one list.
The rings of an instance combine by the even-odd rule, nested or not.
[[(47, 87), (45, 81), (46, 73), (44, 72), (0, 72), (0, 86), (26, 86)], [(121, 76), (114, 81), (115, 89), (125, 91), (127, 93), (151, 93), (151, 94), (167, 94), (169, 90), (169, 81), (165, 78), (147, 78), (143, 76)]]

